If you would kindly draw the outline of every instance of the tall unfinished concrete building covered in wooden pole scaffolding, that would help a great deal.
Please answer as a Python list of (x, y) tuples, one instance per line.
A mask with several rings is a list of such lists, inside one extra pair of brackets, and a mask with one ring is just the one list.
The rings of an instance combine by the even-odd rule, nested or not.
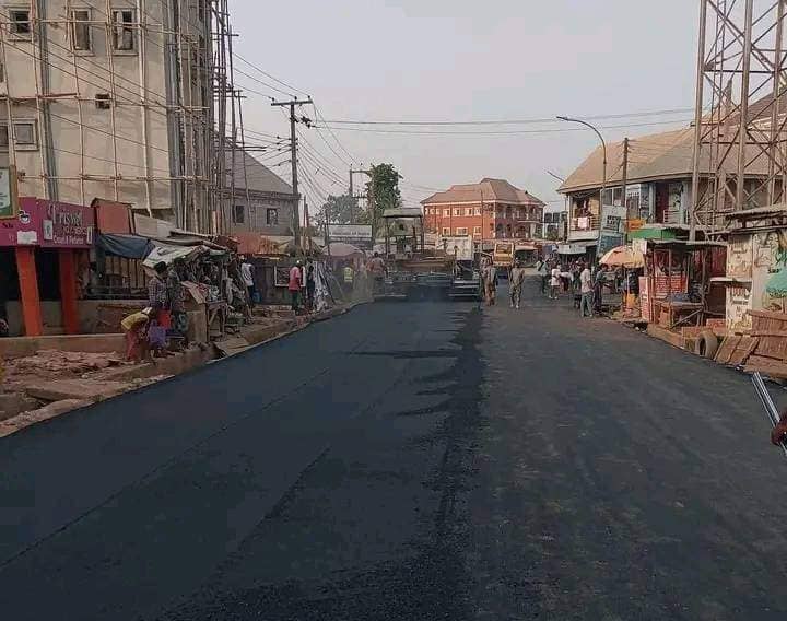
[[(1, 2), (0, 165), (21, 196), (226, 227), (227, 0)], [(220, 155), (221, 154), (221, 155)]]

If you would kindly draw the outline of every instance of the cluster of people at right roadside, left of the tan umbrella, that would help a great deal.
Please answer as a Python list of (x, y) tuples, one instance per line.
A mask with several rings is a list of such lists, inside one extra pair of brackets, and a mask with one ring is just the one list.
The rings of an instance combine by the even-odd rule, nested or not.
[(561, 291), (578, 295), (579, 313), (583, 317), (601, 314), (603, 286), (608, 278), (608, 269), (599, 263), (595, 270), (584, 259), (572, 261), (567, 266), (557, 259), (539, 259), (536, 271), (541, 277), (541, 293), (549, 294), (550, 300), (557, 300)]

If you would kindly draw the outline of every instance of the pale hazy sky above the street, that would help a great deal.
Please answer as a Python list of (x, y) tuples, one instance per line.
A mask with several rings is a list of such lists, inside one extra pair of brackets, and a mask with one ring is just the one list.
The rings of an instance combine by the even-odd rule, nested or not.
[[(331, 121), (531, 120), (680, 110), (592, 120), (606, 140), (615, 141), (685, 126), (693, 114), (695, 0), (230, 0), (230, 9), (239, 35), (233, 42), (239, 57), (235, 83), (245, 91), (247, 141), (259, 139), (270, 149), (275, 142), (270, 137), (289, 136), (282, 108), (270, 105), (270, 97), (287, 99), (284, 93), (310, 95), (332, 128), (299, 127), (307, 141), (298, 157), (301, 189), (313, 212), (324, 195), (346, 191), (349, 164), (383, 162), (403, 176), (406, 204), (416, 204), (433, 189), (498, 177), (556, 209), (563, 203), (555, 191), (559, 181), (547, 171), (566, 177), (598, 145), (591, 131), (562, 121)], [(312, 106), (299, 114), (316, 116)], [(555, 129), (561, 131), (544, 131)], [(509, 133), (423, 133), (434, 131)], [(289, 163), (281, 163), (284, 151), (259, 156), (290, 180)]]

